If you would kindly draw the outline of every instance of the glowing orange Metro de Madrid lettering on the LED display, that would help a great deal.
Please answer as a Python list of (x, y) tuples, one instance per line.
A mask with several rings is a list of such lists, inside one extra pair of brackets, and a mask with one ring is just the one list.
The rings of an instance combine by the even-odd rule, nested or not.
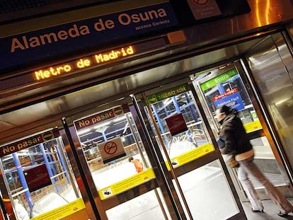
[(117, 50), (111, 50), (108, 52), (93, 54), (90, 57), (76, 59), (67, 64), (60, 64), (58, 66), (50, 66), (45, 69), (39, 69), (33, 72), (33, 77), (37, 81), (49, 79), (62, 74), (69, 74), (78, 69), (85, 69), (89, 66), (97, 66), (98, 64), (103, 64), (122, 57), (130, 57), (133, 54), (135, 54), (134, 46), (122, 47)]

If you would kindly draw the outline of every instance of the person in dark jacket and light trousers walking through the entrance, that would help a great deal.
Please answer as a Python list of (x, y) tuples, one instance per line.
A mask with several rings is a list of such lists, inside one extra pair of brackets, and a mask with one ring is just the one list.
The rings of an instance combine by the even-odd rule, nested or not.
[(263, 204), (255, 191), (248, 175), (253, 175), (266, 188), (269, 197), (277, 204), (279, 216), (287, 216), (293, 212), (293, 206), (282, 193), (277, 190), (253, 162), (253, 146), (248, 139), (246, 130), (238, 117), (237, 111), (226, 105), (216, 110), (216, 120), (221, 125), (220, 135), (225, 139), (225, 145), (220, 149), (222, 154), (235, 156), (240, 167), (238, 178), (251, 202), (252, 212), (263, 212)]

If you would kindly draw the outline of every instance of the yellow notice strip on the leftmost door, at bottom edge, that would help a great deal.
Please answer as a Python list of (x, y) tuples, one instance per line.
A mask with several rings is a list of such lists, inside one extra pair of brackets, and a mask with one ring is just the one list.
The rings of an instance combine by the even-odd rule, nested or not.
[(33, 220), (58, 220), (62, 219), (66, 216), (74, 214), (75, 212), (79, 212), (81, 209), (85, 209), (83, 199), (77, 199), (74, 202), (70, 202), (62, 207), (54, 209), (50, 212), (46, 212), (45, 214), (41, 214), (40, 216), (36, 216)]

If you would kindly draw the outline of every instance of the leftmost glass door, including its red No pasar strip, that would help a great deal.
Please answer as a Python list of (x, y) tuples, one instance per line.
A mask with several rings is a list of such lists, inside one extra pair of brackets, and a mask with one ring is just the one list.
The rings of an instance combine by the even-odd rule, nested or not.
[(9, 219), (89, 218), (59, 129), (1, 146), (0, 168)]

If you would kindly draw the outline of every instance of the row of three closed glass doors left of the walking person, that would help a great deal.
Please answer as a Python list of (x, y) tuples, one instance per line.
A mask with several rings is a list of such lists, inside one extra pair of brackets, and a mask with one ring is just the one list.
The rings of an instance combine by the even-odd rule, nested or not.
[(245, 219), (196, 99), (189, 80), (169, 83), (2, 146), (11, 219), (20, 207), (30, 219), (80, 219), (92, 206), (97, 219)]

